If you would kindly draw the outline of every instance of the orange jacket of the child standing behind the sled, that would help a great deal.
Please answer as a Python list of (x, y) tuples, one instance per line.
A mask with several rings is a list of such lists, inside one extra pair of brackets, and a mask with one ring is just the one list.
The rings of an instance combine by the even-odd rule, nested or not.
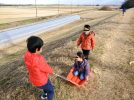
[(89, 35), (85, 35), (85, 33), (83, 32), (77, 41), (77, 46), (81, 45), (81, 49), (84, 50), (94, 49), (95, 46), (94, 35), (95, 35), (94, 32), (90, 33)]

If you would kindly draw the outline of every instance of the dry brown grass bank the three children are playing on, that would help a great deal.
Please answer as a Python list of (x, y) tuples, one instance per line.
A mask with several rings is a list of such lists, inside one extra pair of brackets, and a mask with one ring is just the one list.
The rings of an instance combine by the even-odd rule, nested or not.
[[(97, 43), (94, 52), (90, 55), (90, 64), (94, 73), (85, 88), (80, 89), (62, 79), (51, 76), (50, 79), (55, 85), (55, 100), (134, 99), (134, 69), (128, 65), (128, 60), (134, 58), (134, 16), (131, 16), (132, 13), (133, 9), (128, 11), (124, 17), (117, 15), (94, 26)], [(78, 22), (76, 25), (79, 24)], [(58, 40), (51, 41), (50, 38), (54, 38), (51, 34), (48, 38), (51, 42), (44, 46), (43, 55), (54, 68), (55, 73), (66, 77), (72, 67), (73, 56), (80, 48), (76, 48), (76, 39), (79, 33), (69, 32), (69, 35), (65, 35), (64, 28), (64, 35), (61, 33), (63, 37)], [(77, 28), (77, 31), (79, 29)], [(22, 59), (4, 64), (0, 69), (2, 100), (38, 100), (40, 91), (28, 83)]]

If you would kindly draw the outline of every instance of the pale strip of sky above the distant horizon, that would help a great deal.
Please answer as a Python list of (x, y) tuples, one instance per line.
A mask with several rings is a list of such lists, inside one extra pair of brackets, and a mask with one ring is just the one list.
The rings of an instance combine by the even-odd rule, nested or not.
[[(37, 4), (103, 4), (103, 5), (121, 5), (124, 0), (36, 0)], [(0, 0), (0, 3), (5, 4), (34, 4), (35, 0)]]

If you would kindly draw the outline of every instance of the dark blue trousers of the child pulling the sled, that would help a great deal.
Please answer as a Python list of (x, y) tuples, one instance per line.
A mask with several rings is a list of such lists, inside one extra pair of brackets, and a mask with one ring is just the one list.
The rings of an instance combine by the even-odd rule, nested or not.
[(40, 89), (43, 89), (44, 93), (47, 93), (48, 100), (53, 100), (54, 97), (54, 88), (51, 84), (50, 80), (48, 80), (47, 84), (38, 87)]

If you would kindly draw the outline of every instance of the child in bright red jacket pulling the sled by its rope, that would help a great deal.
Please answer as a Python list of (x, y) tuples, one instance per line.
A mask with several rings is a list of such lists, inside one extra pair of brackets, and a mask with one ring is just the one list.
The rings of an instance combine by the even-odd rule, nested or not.
[(43, 89), (41, 99), (53, 100), (54, 88), (48, 79), (49, 74), (53, 74), (53, 69), (40, 54), (42, 52), (43, 40), (36, 36), (27, 39), (28, 51), (24, 55), (24, 62), (27, 66), (30, 82), (36, 87)]

